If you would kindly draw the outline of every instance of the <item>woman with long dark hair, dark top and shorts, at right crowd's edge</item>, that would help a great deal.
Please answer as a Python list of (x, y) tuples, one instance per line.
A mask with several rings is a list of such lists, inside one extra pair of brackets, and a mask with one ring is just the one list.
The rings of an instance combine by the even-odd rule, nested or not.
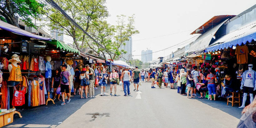
[[(195, 78), (192, 77), (192, 75), (191, 75), (191, 70), (188, 70), (188, 71), (187, 71), (186, 79), (187, 79), (187, 87), (188, 87), (188, 90), (187, 90), (187, 98), (195, 98), (195, 97), (193, 96), (194, 83), (192, 83), (193, 80), (195, 80)], [(190, 97), (189, 97), (189, 91), (190, 91)]]

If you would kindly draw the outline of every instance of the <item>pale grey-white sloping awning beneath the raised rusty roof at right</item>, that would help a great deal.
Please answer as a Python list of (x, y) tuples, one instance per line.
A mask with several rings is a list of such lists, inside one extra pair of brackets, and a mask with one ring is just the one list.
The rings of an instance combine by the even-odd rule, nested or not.
[(200, 35), (194, 43), (190, 45), (190, 49), (188, 53), (193, 53), (195, 51), (203, 51), (206, 47), (209, 46), (209, 43), (211, 42), (212, 38), (214, 37), (214, 34), (219, 30), (219, 27), (223, 25), (228, 19), (221, 22), (219, 25), (216, 25), (211, 30), (208, 30), (204, 34)]

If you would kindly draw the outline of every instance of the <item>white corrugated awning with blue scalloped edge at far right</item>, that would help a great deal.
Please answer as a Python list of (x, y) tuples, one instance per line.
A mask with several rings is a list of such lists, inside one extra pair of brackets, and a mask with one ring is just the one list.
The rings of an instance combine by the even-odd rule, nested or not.
[(236, 45), (246, 44), (247, 41), (250, 43), (252, 40), (256, 40), (256, 22), (241, 26), (240, 29), (224, 35), (206, 48), (206, 52), (232, 48)]

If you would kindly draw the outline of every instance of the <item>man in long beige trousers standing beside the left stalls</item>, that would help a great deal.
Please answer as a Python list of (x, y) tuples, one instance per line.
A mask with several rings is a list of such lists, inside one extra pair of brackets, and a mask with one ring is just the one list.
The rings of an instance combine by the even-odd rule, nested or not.
[(94, 70), (87, 64), (86, 65), (87, 70), (89, 70), (89, 98), (94, 97), (94, 83), (95, 83), (95, 73)]

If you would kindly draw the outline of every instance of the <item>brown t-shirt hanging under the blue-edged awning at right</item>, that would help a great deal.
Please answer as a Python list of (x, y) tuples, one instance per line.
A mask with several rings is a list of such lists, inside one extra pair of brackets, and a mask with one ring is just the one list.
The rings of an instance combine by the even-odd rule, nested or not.
[(247, 46), (237, 46), (235, 54), (237, 55), (238, 64), (246, 64), (248, 62), (248, 47)]

